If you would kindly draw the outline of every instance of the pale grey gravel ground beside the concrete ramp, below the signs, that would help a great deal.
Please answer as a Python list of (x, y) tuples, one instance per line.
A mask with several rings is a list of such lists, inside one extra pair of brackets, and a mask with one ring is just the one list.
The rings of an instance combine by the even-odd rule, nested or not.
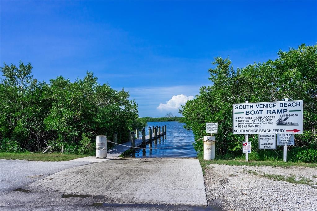
[[(317, 169), (210, 164), (204, 179), (208, 204), (223, 210), (317, 210)], [(310, 185), (275, 181), (248, 171), (309, 179)]]

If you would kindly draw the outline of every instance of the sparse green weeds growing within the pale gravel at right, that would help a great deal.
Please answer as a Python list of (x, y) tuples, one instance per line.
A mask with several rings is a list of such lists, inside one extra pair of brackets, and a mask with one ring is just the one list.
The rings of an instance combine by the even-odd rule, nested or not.
[(267, 174), (267, 173), (264, 173), (261, 171), (254, 171), (254, 170), (243, 169), (243, 172), (247, 172), (247, 173), (255, 175), (255, 176), (265, 177), (265, 178), (275, 180), (275, 181), (285, 181), (285, 182), (290, 182), (290, 183), (294, 183), (294, 184), (309, 185), (309, 186), (312, 186), (314, 188), (316, 188), (315, 185), (317, 185), (317, 184), (314, 184), (311, 179), (306, 178), (306, 177), (302, 177), (302, 176), (299, 177), (299, 179), (296, 179), (295, 176), (285, 177), (285, 176), (279, 175), (279, 174)]

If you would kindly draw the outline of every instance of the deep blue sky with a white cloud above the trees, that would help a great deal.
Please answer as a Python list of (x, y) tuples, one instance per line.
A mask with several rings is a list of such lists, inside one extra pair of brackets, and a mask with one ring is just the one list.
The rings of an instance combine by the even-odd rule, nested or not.
[[(317, 42), (316, 1), (1, 1), (1, 66), (70, 80), (93, 71), (159, 117), (210, 85), (215, 56), (233, 66)], [(173, 97), (175, 96), (175, 97)], [(168, 101), (168, 102), (167, 102)], [(178, 114), (179, 115), (179, 114)]]

